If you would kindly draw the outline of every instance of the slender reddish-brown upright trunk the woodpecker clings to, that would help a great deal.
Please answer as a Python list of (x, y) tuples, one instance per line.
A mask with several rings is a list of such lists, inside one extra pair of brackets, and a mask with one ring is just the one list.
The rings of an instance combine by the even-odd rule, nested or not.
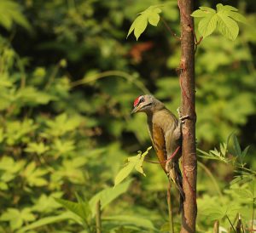
[(195, 36), (193, 0), (177, 0), (181, 23), (180, 84), (182, 116), (189, 116), (183, 123), (183, 203), (181, 232), (195, 232), (196, 207), (196, 153), (195, 153)]

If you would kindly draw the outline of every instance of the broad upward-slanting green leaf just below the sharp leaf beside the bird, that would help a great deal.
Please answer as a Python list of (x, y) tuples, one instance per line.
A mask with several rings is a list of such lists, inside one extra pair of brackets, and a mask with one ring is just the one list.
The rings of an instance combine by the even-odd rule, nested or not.
[(125, 193), (131, 184), (131, 179), (127, 180), (123, 184), (116, 185), (114, 188), (109, 187), (98, 192), (95, 196), (90, 199), (90, 210), (92, 216), (96, 213), (96, 202), (101, 201), (101, 208), (108, 206), (110, 202), (113, 202), (115, 198)]

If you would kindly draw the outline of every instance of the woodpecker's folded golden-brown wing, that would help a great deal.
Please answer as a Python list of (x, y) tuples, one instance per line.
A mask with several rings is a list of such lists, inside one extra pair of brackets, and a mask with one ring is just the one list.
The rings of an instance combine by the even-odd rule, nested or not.
[(149, 128), (149, 131), (160, 165), (166, 171), (166, 141), (163, 131), (155, 124), (152, 125), (151, 129)]

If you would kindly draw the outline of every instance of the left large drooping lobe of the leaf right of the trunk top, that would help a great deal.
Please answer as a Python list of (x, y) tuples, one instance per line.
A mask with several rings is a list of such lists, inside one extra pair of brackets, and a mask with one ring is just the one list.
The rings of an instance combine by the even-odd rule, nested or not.
[(207, 17), (203, 18), (198, 24), (198, 31), (203, 37), (207, 37), (212, 34), (216, 29), (218, 22), (218, 17), (216, 14), (209, 14)]

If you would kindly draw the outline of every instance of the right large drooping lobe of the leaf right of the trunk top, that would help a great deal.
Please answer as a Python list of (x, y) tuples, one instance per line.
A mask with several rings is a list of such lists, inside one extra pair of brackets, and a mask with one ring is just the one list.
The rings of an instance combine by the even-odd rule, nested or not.
[(218, 12), (218, 31), (226, 38), (235, 41), (239, 27), (235, 20), (230, 19), (223, 12)]

